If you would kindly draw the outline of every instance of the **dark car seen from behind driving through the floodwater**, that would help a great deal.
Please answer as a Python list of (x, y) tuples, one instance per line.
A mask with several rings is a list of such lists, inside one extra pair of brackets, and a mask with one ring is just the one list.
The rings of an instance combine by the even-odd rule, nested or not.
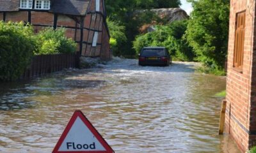
[(139, 54), (140, 66), (169, 66), (172, 58), (165, 47), (144, 47)]

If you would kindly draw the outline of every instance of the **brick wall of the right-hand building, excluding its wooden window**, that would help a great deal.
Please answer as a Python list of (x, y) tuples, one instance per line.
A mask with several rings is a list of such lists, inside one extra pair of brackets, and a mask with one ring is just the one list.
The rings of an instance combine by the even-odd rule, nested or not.
[[(230, 29), (228, 42), (228, 71), (227, 71), (227, 111), (225, 119), (225, 129), (234, 138), (237, 145), (243, 152), (249, 149), (253, 143), (252, 125), (256, 123), (254, 115), (256, 111), (251, 111), (252, 103), (256, 104), (256, 94), (252, 92), (252, 48), (254, 37), (254, 18), (255, 3), (250, 0), (231, 0), (230, 1)], [(233, 67), (234, 63), (234, 43), (236, 31), (236, 14), (246, 11), (246, 27), (244, 36), (244, 58), (243, 71), (237, 71)], [(255, 62), (256, 64), (256, 62)], [(256, 76), (255, 76), (256, 77)], [(256, 82), (256, 80), (255, 80)], [(256, 85), (256, 84), (255, 84)], [(255, 92), (256, 93), (256, 92)], [(251, 101), (253, 99), (254, 101)], [(252, 102), (252, 103), (251, 103)], [(256, 110), (256, 109), (255, 109)], [(256, 124), (254, 128), (256, 127)], [(256, 128), (255, 128), (256, 129)]]

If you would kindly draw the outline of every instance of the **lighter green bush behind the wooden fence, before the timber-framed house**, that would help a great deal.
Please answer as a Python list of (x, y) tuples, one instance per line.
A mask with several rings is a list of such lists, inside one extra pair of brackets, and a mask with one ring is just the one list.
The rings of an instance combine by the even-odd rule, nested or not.
[(70, 54), (76, 52), (76, 43), (65, 36), (65, 29), (46, 28), (35, 35), (35, 55)]

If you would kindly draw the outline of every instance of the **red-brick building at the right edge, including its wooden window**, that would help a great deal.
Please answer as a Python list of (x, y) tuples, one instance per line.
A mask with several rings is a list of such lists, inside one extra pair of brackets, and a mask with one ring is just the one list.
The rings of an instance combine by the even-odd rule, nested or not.
[(230, 0), (225, 129), (243, 152), (256, 145), (255, 1)]

